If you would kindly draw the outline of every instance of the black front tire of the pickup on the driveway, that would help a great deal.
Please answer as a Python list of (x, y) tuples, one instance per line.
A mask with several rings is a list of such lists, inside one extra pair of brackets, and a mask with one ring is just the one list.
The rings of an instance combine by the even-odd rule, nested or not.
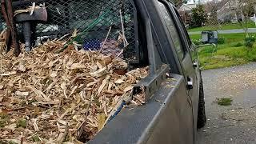
[(199, 87), (199, 102), (198, 102), (198, 129), (206, 125), (206, 107), (205, 96), (203, 93), (202, 78)]

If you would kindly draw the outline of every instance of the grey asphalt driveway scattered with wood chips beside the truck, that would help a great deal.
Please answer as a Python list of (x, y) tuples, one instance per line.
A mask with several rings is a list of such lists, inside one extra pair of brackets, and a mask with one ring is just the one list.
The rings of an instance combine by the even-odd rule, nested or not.
[[(206, 126), (198, 130), (198, 144), (256, 143), (256, 63), (202, 72)], [(218, 106), (216, 98), (232, 98)]]

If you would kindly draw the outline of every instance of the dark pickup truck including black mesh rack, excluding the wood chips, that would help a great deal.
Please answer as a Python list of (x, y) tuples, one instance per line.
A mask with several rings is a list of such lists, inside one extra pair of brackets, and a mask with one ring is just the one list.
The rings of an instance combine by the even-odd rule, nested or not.
[[(30, 2), (14, 1), (14, 10), (24, 8)], [(197, 46), (190, 41), (186, 28), (172, 2), (169, 0), (107, 1), (111, 3), (110, 5), (116, 4), (116, 6), (106, 5), (105, 1), (92, 0), (36, 0), (33, 2), (49, 4), (50, 6), (46, 7), (49, 21), (52, 21), (46, 26), (42, 26), (43, 23), (38, 24), (42, 28), (37, 30), (37, 38), (63, 35), (74, 30), (74, 26), (80, 26), (78, 30), (87, 34), (86, 38), (89, 40), (83, 37), (76, 41), (87, 43), (83, 46), (87, 50), (91, 46), (102, 45), (102, 39), (104, 40), (110, 25), (109, 32), (111, 28), (118, 31), (121, 27), (122, 34), (118, 31), (119, 34), (121, 36), (126, 34), (126, 40), (129, 42), (122, 57), (129, 61), (130, 69), (137, 66), (150, 67), (149, 76), (138, 82), (133, 92), (136, 94), (141, 87), (144, 87), (145, 104), (123, 107), (88, 143), (189, 144), (196, 142), (198, 128), (206, 124), (198, 50)], [(125, 5), (122, 6), (122, 3)], [(114, 10), (117, 11), (114, 13), (116, 15), (110, 14), (110, 11)], [(122, 15), (122, 13), (124, 17), (121, 17), (123, 21), (120, 22), (119, 14)], [(55, 17), (52, 14), (55, 14)], [(106, 18), (106, 15), (109, 17)], [(105, 18), (108, 22), (100, 18)], [(93, 30), (92, 27), (96, 29)], [(22, 37), (21, 31), (19, 26), (19, 37)], [(115, 43), (114, 39), (117, 38), (111, 34), (108, 42)], [(111, 50), (106, 49), (106, 52), (114, 50), (113, 47), (109, 49)], [(88, 141), (82, 138), (79, 140)]]

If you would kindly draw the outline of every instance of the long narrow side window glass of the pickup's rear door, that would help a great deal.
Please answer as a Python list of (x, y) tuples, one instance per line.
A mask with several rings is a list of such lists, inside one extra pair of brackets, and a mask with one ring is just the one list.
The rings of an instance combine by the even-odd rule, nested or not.
[(175, 27), (174, 19), (171, 18), (170, 13), (168, 12), (166, 6), (162, 2), (158, 1), (158, 4), (159, 4), (159, 10), (161, 11), (162, 17), (164, 18), (164, 21), (166, 22), (166, 26), (169, 30), (170, 37), (174, 42), (175, 50), (178, 53), (178, 58), (182, 60), (185, 56), (185, 50), (183, 50), (182, 41), (179, 37), (178, 30)]

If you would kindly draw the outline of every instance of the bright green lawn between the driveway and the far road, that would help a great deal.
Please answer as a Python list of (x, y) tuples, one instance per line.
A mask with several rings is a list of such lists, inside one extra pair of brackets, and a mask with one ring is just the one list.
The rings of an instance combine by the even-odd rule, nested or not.
[[(213, 46), (199, 48), (202, 69), (216, 69), (256, 62), (256, 45), (251, 50), (246, 48), (244, 36), (244, 34), (219, 34), (219, 38), (225, 38), (225, 43), (218, 45), (217, 51), (213, 52)], [(192, 40), (200, 37), (200, 34), (190, 35)]]

